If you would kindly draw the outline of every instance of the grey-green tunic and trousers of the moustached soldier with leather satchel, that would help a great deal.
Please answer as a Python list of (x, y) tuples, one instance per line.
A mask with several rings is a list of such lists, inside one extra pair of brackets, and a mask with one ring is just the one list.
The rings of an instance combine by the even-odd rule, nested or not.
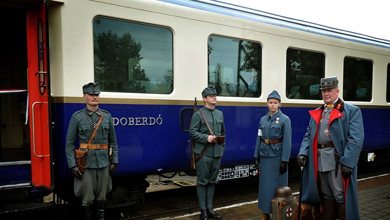
[[(108, 144), (108, 147), (112, 145), (112, 163), (118, 163), (118, 145), (111, 114), (99, 108), (92, 112), (86, 107), (73, 113), (69, 122), (65, 149), (69, 168), (76, 166), (74, 148), (77, 137), (80, 143), (89, 142), (94, 131), (92, 125), (98, 123), (100, 113), (103, 113), (103, 120), (92, 140), (92, 144)], [(85, 150), (85, 148), (80, 149)], [(90, 164), (89, 161), (91, 161)], [(89, 149), (85, 159), (85, 165), (88, 164), (89, 166), (85, 169), (82, 180), (74, 179), (74, 192), (76, 196), (83, 199), (83, 206), (92, 204), (95, 197), (96, 200), (105, 200), (105, 194), (111, 190), (111, 178), (108, 177), (108, 149)], [(88, 184), (92, 181), (96, 182), (96, 179), (98, 181), (97, 186)]]

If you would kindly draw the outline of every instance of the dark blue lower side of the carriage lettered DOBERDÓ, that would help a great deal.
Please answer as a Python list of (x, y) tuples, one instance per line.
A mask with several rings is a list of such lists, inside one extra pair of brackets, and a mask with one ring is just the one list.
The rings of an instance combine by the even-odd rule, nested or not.
[[(85, 104), (53, 104), (53, 146), (56, 179), (64, 178), (66, 131), (71, 115)], [(119, 145), (116, 175), (169, 172), (183, 170), (190, 165), (190, 136), (179, 127), (178, 105), (100, 104), (114, 118), (125, 118), (115, 126)], [(199, 106), (201, 107), (201, 106)], [(253, 161), (258, 123), (266, 107), (218, 106), (223, 111), (226, 127), (226, 149), (222, 165)], [(310, 116), (308, 107), (282, 107), (291, 119), (293, 140), (291, 157), (296, 157)], [(390, 109), (362, 109), (365, 127), (363, 150), (388, 147), (390, 142)], [(128, 118), (162, 118), (161, 125), (128, 125)], [(383, 116), (383, 117), (381, 117)], [(134, 122), (136, 123), (136, 122)], [(142, 119), (139, 121), (142, 123)]]

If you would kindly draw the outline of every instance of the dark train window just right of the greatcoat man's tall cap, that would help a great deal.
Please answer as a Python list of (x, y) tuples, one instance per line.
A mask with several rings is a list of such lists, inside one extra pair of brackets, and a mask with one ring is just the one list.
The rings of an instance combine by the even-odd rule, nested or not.
[(344, 57), (343, 98), (346, 101), (371, 101), (372, 61)]

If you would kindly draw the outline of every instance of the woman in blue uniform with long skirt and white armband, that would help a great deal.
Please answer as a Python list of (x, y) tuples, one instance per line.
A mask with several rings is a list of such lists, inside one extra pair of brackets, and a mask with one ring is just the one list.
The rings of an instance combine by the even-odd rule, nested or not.
[(267, 98), (267, 114), (260, 119), (255, 147), (255, 166), (260, 172), (259, 203), (268, 220), (271, 199), (280, 186), (287, 186), (287, 162), (291, 152), (291, 121), (280, 111), (280, 95), (274, 90)]

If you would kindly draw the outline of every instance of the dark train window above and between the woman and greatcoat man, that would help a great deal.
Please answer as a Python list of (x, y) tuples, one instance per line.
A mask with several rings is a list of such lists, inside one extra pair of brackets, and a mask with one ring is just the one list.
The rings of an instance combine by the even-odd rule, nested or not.
[(287, 49), (286, 96), (291, 99), (321, 99), (319, 82), (325, 76), (325, 55)]

